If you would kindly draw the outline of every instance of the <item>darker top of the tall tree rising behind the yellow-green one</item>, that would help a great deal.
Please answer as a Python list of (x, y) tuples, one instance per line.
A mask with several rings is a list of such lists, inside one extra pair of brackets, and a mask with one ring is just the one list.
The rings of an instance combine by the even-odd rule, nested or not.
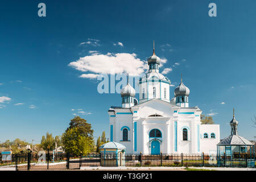
[(71, 122), (69, 123), (69, 127), (67, 130), (72, 129), (73, 127), (77, 127), (77, 130), (81, 135), (93, 139), (92, 127), (90, 123), (86, 122), (85, 119), (80, 118), (79, 116), (76, 116), (75, 118), (71, 119)]

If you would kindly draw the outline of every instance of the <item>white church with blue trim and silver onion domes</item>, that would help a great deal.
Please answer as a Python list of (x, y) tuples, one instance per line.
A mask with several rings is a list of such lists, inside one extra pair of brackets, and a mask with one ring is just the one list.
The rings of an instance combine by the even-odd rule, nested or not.
[(219, 125), (201, 125), (199, 107), (189, 107), (189, 89), (182, 78), (170, 100), (171, 81), (159, 73), (160, 58), (147, 59), (149, 70), (139, 80), (139, 100), (127, 81), (122, 107), (108, 110), (110, 141), (126, 147), (126, 154), (196, 154), (216, 152)]

